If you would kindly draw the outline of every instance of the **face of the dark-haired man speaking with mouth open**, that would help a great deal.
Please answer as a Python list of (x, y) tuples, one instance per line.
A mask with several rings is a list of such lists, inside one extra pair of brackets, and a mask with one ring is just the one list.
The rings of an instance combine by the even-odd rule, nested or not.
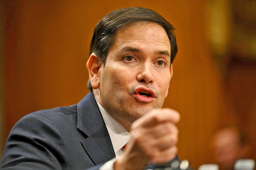
[(126, 129), (140, 116), (161, 108), (172, 77), (171, 47), (164, 28), (135, 24), (116, 33), (100, 67), (100, 100)]

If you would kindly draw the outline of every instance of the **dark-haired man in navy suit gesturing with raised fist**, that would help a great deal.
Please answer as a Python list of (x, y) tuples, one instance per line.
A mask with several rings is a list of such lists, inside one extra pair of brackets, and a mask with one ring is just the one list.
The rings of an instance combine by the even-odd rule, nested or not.
[(180, 116), (161, 107), (177, 53), (173, 30), (158, 13), (140, 7), (102, 18), (86, 64), (92, 91), (77, 105), (17, 122), (1, 168), (142, 170), (171, 161)]

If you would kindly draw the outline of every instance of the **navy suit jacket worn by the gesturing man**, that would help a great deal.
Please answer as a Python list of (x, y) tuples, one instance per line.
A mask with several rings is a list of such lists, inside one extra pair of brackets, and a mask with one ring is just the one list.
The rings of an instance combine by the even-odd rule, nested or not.
[(0, 168), (98, 169), (115, 157), (92, 92), (77, 105), (24, 116), (6, 141)]

